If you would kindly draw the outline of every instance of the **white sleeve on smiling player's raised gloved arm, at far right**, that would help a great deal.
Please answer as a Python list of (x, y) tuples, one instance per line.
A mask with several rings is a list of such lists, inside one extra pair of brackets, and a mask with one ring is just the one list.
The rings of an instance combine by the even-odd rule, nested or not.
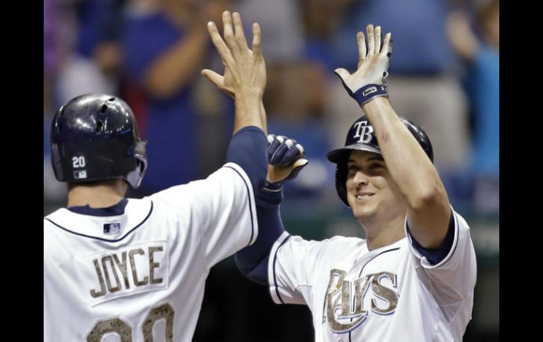
[(453, 305), (463, 300), (472, 300), (477, 277), (475, 250), (470, 238), (470, 227), (460, 214), (452, 210), (454, 238), (446, 257), (437, 264), (426, 259), (413, 244), (413, 236), (405, 221), (410, 252), (415, 257), (415, 269), (422, 283), (432, 292), (437, 302)]

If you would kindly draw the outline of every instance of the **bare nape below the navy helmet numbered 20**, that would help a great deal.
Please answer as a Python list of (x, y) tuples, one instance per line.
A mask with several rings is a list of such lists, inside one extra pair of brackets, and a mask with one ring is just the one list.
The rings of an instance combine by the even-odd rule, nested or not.
[(105, 208), (124, 198), (128, 184), (121, 179), (68, 185), (68, 207)]

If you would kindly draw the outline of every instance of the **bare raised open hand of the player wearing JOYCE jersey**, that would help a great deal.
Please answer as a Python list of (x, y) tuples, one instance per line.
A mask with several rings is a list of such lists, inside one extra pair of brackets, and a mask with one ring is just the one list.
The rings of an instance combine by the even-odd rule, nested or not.
[(249, 49), (239, 13), (222, 13), (224, 40), (214, 22), (207, 23), (211, 36), (224, 65), (221, 76), (209, 69), (202, 70), (214, 85), (233, 98), (236, 95), (254, 95), (262, 98), (266, 87), (266, 65), (260, 49), (260, 25), (252, 24), (252, 50)]

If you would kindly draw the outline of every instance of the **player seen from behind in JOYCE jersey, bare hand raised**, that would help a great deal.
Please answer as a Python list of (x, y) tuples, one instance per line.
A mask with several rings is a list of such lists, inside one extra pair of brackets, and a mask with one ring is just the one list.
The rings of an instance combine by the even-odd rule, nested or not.
[(68, 207), (44, 217), (44, 341), (190, 341), (209, 269), (257, 238), (254, 193), (267, 169), (261, 32), (252, 26), (251, 51), (239, 14), (222, 19), (226, 42), (207, 28), (224, 76), (202, 73), (235, 97), (236, 118), (226, 164), (208, 178), (126, 199), (147, 169), (130, 107), (85, 94), (54, 116), (52, 166), (68, 183)]

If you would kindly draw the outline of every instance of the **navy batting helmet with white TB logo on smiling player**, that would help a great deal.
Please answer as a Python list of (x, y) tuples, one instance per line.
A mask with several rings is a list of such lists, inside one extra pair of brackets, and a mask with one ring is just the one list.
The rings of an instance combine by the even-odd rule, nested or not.
[[(400, 120), (403, 122), (405, 127), (415, 136), (417, 142), (419, 142), (422, 149), (425, 150), (429, 159), (434, 161), (434, 152), (432, 150), (432, 143), (426, 135), (425, 131), (422, 130), (417, 124), (409, 121), (406, 118), (400, 117)], [(331, 152), (328, 152), (328, 160), (336, 165), (336, 190), (338, 192), (339, 198), (350, 207), (347, 202), (347, 159), (350, 152), (352, 151), (367, 151), (377, 154), (381, 153), (381, 147), (377, 143), (377, 135), (375, 135), (374, 129), (371, 126), (370, 119), (367, 116), (362, 116), (359, 118), (353, 126), (350, 127), (349, 132), (347, 133), (347, 138), (345, 140), (345, 147), (334, 149)]]

